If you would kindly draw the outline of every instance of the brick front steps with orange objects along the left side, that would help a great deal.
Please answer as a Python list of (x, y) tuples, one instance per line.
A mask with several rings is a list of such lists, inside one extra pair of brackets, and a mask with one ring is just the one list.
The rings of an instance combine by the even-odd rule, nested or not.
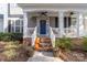
[(35, 50), (36, 51), (51, 51), (52, 50), (51, 39), (50, 37), (36, 37)]

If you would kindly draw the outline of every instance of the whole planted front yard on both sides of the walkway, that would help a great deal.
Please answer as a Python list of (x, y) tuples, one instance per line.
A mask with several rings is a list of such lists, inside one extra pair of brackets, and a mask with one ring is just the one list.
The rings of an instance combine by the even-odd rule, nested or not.
[[(20, 33), (0, 33), (0, 62), (26, 62), (32, 57), (34, 47), (22, 41)], [(52, 53), (65, 62), (87, 62), (87, 37), (56, 39)]]

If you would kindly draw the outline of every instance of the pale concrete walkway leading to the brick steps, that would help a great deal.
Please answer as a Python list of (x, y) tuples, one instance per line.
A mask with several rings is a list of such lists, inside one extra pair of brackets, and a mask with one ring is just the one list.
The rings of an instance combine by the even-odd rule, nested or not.
[(35, 52), (33, 57), (30, 57), (28, 62), (63, 62), (59, 57), (53, 57), (52, 52)]

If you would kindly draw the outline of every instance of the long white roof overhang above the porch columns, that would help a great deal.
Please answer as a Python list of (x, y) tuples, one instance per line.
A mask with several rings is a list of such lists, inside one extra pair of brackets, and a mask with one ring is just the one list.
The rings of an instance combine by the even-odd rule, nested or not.
[(87, 3), (18, 3), (23, 11), (87, 11)]

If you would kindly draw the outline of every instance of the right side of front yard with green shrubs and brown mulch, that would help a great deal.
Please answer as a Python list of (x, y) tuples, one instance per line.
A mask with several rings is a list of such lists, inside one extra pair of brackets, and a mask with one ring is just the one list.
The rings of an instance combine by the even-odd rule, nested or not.
[(57, 39), (53, 54), (65, 62), (87, 62), (87, 37)]

